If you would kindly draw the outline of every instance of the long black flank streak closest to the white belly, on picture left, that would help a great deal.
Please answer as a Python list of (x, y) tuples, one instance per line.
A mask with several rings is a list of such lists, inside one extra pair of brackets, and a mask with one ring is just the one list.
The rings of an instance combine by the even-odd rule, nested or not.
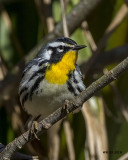
[(32, 100), (32, 95), (34, 91), (39, 87), (40, 82), (44, 79), (44, 76), (40, 76), (36, 79), (34, 85), (32, 86), (29, 94), (29, 99)]

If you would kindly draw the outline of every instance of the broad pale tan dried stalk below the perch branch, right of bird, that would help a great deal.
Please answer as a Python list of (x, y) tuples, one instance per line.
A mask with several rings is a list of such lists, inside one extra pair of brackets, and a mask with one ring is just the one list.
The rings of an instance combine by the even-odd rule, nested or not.
[[(98, 97), (100, 113), (97, 115), (91, 110), (89, 102), (84, 103), (82, 113), (86, 123), (86, 143), (85, 158), (89, 160), (107, 160), (105, 154), (101, 154), (103, 150), (107, 150), (107, 136), (104, 119), (104, 106), (102, 99)], [(90, 155), (90, 156), (89, 156)]]

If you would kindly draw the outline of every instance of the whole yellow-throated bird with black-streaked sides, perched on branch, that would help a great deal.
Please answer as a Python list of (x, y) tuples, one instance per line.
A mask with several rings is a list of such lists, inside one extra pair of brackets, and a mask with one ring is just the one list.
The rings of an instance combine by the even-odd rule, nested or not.
[(41, 115), (43, 119), (85, 89), (76, 64), (78, 50), (85, 47), (70, 38), (60, 37), (42, 47), (26, 65), (19, 94), (28, 114)]

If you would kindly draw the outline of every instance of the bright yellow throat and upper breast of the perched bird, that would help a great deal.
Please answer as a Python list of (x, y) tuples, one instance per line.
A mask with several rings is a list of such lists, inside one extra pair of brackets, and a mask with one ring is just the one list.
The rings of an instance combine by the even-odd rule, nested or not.
[(60, 62), (52, 64), (46, 70), (45, 79), (52, 84), (64, 84), (68, 80), (68, 74), (75, 69), (77, 52), (65, 53)]

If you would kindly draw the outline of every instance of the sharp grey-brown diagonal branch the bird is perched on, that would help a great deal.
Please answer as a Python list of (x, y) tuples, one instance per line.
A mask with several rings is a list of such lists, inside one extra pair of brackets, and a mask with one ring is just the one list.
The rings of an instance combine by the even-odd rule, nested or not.
[[(97, 81), (93, 82), (85, 91), (80, 95), (75, 97), (70, 105), (67, 106), (66, 110), (59, 108), (53, 114), (49, 115), (47, 118), (42, 120), (38, 125), (37, 135), (40, 135), (46, 129), (49, 129), (59, 120), (63, 119), (67, 113), (73, 112), (75, 109), (82, 106), (82, 104), (92, 97), (97, 91), (101, 90), (103, 87), (116, 80), (124, 71), (128, 70), (128, 57), (123, 60), (119, 65), (110, 70), (106, 75), (103, 75)], [(47, 125), (46, 125), (47, 124)], [(33, 137), (34, 138), (34, 137)], [(9, 159), (16, 152), (16, 150), (21, 149), (30, 140), (29, 131), (23, 133), (18, 138), (11, 143), (9, 143), (3, 152), (0, 154), (0, 160)]]

